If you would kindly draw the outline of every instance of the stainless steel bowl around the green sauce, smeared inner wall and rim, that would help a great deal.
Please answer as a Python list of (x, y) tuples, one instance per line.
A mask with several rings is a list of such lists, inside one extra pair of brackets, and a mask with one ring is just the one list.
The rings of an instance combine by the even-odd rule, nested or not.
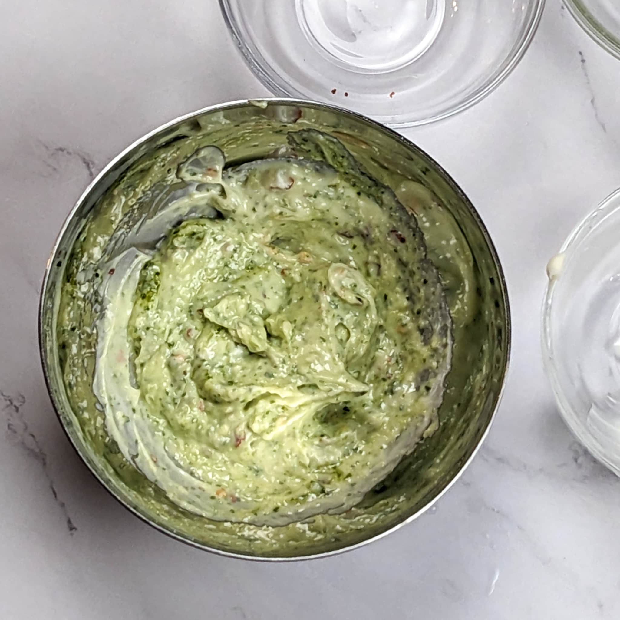
[[(56, 321), (65, 265), (80, 251), (76, 240), (84, 225), (97, 216), (102, 197), (119, 179), (144, 166), (158, 149), (174, 141), (191, 138), (216, 144), (234, 164), (265, 157), (286, 142), (287, 131), (308, 127), (337, 136), (377, 179), (389, 184), (391, 175), (397, 173), (432, 192), (469, 246), (469, 267), (475, 278), (470, 284), (475, 286), (479, 303), (472, 321), (454, 331), (453, 370), (440, 410), (440, 429), (418, 445), (384, 484), (366, 495), (355, 508), (355, 518), (346, 514), (334, 518), (334, 523), (346, 527), (319, 531), (317, 523), (307, 523), (304, 528), (312, 536), (265, 546), (255, 536), (231, 533), (221, 523), (170, 505), (162, 494), (139, 494), (129, 479), (97, 453), (82, 431), (64, 387)], [(151, 131), (113, 159), (63, 224), (45, 271), (39, 330), (51, 401), (69, 440), (99, 482), (135, 515), (174, 538), (226, 556), (264, 560), (321, 557), (353, 549), (427, 510), (463, 472), (487, 435), (502, 394), (510, 352), (510, 314), (500, 262), (479, 215), (445, 170), (417, 146), (368, 118), (337, 107), (288, 99), (241, 101), (198, 110)], [(133, 471), (132, 475), (139, 474)]]

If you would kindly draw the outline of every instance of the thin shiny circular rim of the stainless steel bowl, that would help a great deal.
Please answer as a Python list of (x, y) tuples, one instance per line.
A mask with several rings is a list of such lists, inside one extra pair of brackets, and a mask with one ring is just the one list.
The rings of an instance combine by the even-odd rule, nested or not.
[[(471, 212), (471, 215), (474, 221), (479, 227), (480, 232), (482, 232), (482, 236), (484, 237), (484, 240), (487, 246), (489, 247), (489, 252), (494, 262), (495, 268), (497, 268), (497, 274), (500, 280), (500, 291), (502, 293), (502, 300), (506, 308), (506, 317), (505, 317), (505, 325), (504, 325), (506, 328), (506, 351), (504, 355), (503, 371), (502, 371), (502, 375), (500, 376), (501, 386), (500, 386), (500, 390), (497, 395), (497, 399), (495, 401), (494, 410), (492, 414), (490, 415), (489, 420), (487, 421), (487, 424), (484, 429), (484, 432), (482, 433), (482, 436), (480, 436), (479, 441), (477, 442), (476, 446), (472, 450), (472, 453), (469, 455), (465, 463), (463, 463), (459, 471), (456, 472), (456, 474), (454, 474), (453, 479), (451, 479), (445, 485), (445, 487), (443, 487), (443, 489), (441, 489), (441, 491), (437, 495), (435, 495), (435, 497), (433, 497), (432, 500), (430, 500), (426, 505), (424, 505), (419, 510), (415, 511), (415, 513), (413, 513), (412, 515), (407, 516), (402, 521), (399, 521), (399, 523), (396, 523), (396, 525), (391, 526), (391, 528), (387, 528), (383, 532), (375, 534), (374, 536), (370, 536), (370, 538), (366, 538), (350, 546), (344, 546), (344, 547), (341, 547), (340, 549), (334, 549), (332, 551), (325, 551), (325, 552), (320, 552), (316, 554), (308, 554), (305, 556), (286, 556), (286, 557), (251, 556), (249, 554), (236, 553), (232, 551), (225, 551), (224, 549), (218, 549), (216, 547), (210, 547), (206, 544), (201, 544), (200, 542), (185, 538), (185, 536), (182, 536), (180, 534), (175, 533), (174, 531), (170, 529), (165, 528), (159, 523), (156, 523), (155, 521), (151, 520), (148, 516), (143, 515), (137, 508), (131, 506), (128, 502), (126, 502), (126, 500), (123, 497), (120, 497), (120, 495), (118, 495), (116, 492), (110, 489), (110, 487), (108, 487), (108, 485), (105, 483), (102, 477), (99, 476), (97, 471), (95, 471), (94, 467), (92, 467), (91, 464), (89, 463), (86, 456), (82, 454), (80, 447), (78, 446), (76, 441), (73, 440), (71, 433), (69, 433), (69, 429), (65, 426), (63, 422), (63, 418), (61, 417), (61, 414), (60, 414), (60, 409), (61, 409), (60, 404), (56, 402), (56, 399), (53, 396), (53, 392), (51, 389), (50, 370), (48, 367), (48, 361), (45, 356), (45, 350), (43, 346), (43, 343), (45, 340), (45, 335), (43, 333), (43, 312), (44, 312), (43, 306), (45, 303), (45, 299), (47, 297), (48, 283), (50, 281), (50, 275), (51, 275), (51, 266), (54, 263), (56, 252), (58, 251), (60, 242), (62, 241), (64, 234), (66, 230), (68, 229), (69, 225), (73, 221), (76, 211), (78, 211), (82, 203), (84, 203), (84, 201), (86, 201), (87, 198), (89, 198), (89, 195), (91, 194), (92, 190), (94, 190), (94, 188), (103, 179), (105, 179), (108, 172), (110, 172), (110, 170), (113, 170), (117, 166), (118, 162), (122, 161), (123, 157), (130, 154), (131, 151), (133, 151), (133, 149), (138, 148), (138, 146), (140, 146), (141, 144), (144, 144), (149, 139), (154, 138), (154, 136), (161, 133), (161, 131), (169, 129), (179, 123), (190, 120), (199, 115), (203, 115), (203, 114), (210, 113), (210, 112), (229, 110), (229, 109), (242, 107), (246, 105), (252, 105), (252, 103), (256, 101), (260, 101), (260, 102), (264, 101), (264, 102), (267, 102), (268, 105), (298, 105), (301, 107), (319, 108), (319, 109), (329, 110), (330, 112), (337, 112), (337, 113), (340, 113), (340, 114), (343, 114), (349, 117), (353, 117), (355, 118), (355, 120), (361, 121), (365, 123), (366, 125), (370, 125), (371, 127), (375, 128), (378, 131), (387, 133), (387, 135), (389, 135), (392, 139), (395, 139), (396, 141), (402, 143), (410, 151), (413, 151), (414, 153), (425, 157), (428, 163), (431, 164), (432, 167), (435, 169), (435, 171), (440, 173), (443, 179), (445, 179), (446, 182), (448, 182), (448, 185), (450, 185), (451, 188), (453, 188), (454, 192), (456, 192), (459, 199), (464, 201), (464, 203), (467, 206), (467, 209)], [(432, 507), (435, 504), (435, 502), (437, 502), (441, 497), (443, 497), (443, 495), (448, 491), (448, 489), (450, 489), (456, 483), (459, 477), (463, 475), (463, 472), (467, 469), (467, 467), (469, 467), (469, 464), (471, 464), (471, 462), (473, 461), (474, 457), (476, 456), (477, 452), (480, 449), (480, 446), (482, 446), (482, 443), (484, 443), (484, 440), (487, 438), (487, 435), (489, 435), (490, 428), (495, 420), (495, 416), (497, 415), (497, 409), (500, 405), (500, 402), (502, 401), (502, 397), (505, 391), (508, 369), (510, 368), (511, 335), (512, 335), (512, 330), (511, 330), (510, 302), (508, 299), (508, 290), (507, 290), (505, 275), (503, 273), (502, 265), (500, 263), (500, 260), (497, 254), (497, 250), (495, 249), (495, 245), (492, 242), (492, 239), (489, 235), (489, 231), (487, 231), (487, 228), (482, 222), (482, 219), (480, 218), (479, 213), (476, 211), (476, 208), (474, 207), (474, 205), (472, 205), (471, 201), (469, 200), (469, 198), (467, 198), (466, 194), (463, 192), (461, 187), (459, 187), (459, 185), (446, 172), (446, 170), (443, 169), (443, 167), (440, 166), (440, 164), (438, 164), (435, 161), (435, 159), (433, 159), (433, 157), (428, 155), (425, 151), (419, 148), (416, 144), (412, 143), (412, 141), (410, 141), (409, 139), (400, 135), (399, 133), (387, 127), (386, 125), (376, 122), (372, 120), (371, 118), (365, 117), (364, 115), (360, 113), (352, 112), (352, 110), (347, 110), (346, 108), (342, 108), (336, 105), (324, 104), (322, 102), (314, 102), (311, 100), (304, 100), (304, 99), (289, 99), (289, 98), (281, 98), (281, 97), (266, 97), (266, 98), (260, 98), (260, 99), (239, 99), (239, 100), (232, 101), (232, 102), (226, 102), (224, 104), (210, 105), (205, 108), (201, 108), (200, 110), (195, 110), (195, 112), (186, 113), (177, 118), (174, 118), (173, 120), (170, 120), (167, 123), (157, 126), (157, 128), (154, 128), (153, 130), (149, 131), (145, 135), (133, 141), (133, 143), (131, 143), (129, 146), (123, 149), (123, 151), (121, 151), (121, 153), (119, 153), (116, 157), (113, 157), (113, 159), (107, 164), (107, 166), (105, 166), (102, 170), (100, 170), (99, 174), (95, 175), (94, 179), (92, 179), (89, 185), (87, 185), (84, 192), (82, 192), (81, 196), (78, 198), (75, 205), (73, 206), (71, 211), (69, 211), (69, 214), (64, 219), (64, 223), (61, 226), (61, 229), (58, 232), (58, 235), (56, 236), (56, 240), (53, 244), (53, 247), (50, 252), (50, 256), (48, 257), (48, 260), (47, 260), (47, 265), (45, 267), (45, 274), (43, 276), (43, 283), (41, 286), (39, 306), (38, 306), (39, 355), (40, 355), (41, 365), (43, 369), (43, 376), (45, 378), (45, 386), (47, 387), (47, 391), (48, 391), (48, 395), (50, 396), (52, 407), (56, 413), (56, 417), (58, 418), (58, 421), (60, 422), (61, 427), (63, 428), (64, 434), (67, 436), (69, 443), (71, 443), (71, 446), (73, 446), (73, 449), (78, 454), (82, 463), (86, 465), (87, 469), (95, 477), (95, 480), (97, 480), (97, 482), (99, 482), (99, 484), (102, 485), (102, 487), (110, 495), (112, 495), (112, 497), (115, 498), (117, 502), (119, 502), (123, 507), (125, 507), (133, 515), (137, 516), (139, 520), (143, 521), (144, 523), (151, 526), (152, 528), (157, 529), (161, 533), (166, 534), (166, 536), (169, 536), (170, 538), (173, 538), (177, 541), (184, 542), (185, 544), (188, 544), (189, 546), (195, 547), (197, 549), (201, 549), (202, 551), (208, 551), (210, 553), (214, 553), (219, 556), (232, 557), (232, 558), (242, 559), (242, 560), (252, 560), (255, 562), (296, 562), (296, 561), (302, 561), (302, 560), (320, 559), (324, 557), (337, 556), (344, 552), (353, 551), (353, 549), (358, 549), (359, 547), (365, 546), (366, 544), (369, 544), (370, 542), (378, 541), (384, 536), (387, 536), (387, 534), (390, 534), (396, 531), (397, 529), (402, 528), (402, 526), (406, 525), (407, 523), (414, 521), (415, 519), (418, 518), (418, 516), (425, 513), (428, 510), (428, 508)]]

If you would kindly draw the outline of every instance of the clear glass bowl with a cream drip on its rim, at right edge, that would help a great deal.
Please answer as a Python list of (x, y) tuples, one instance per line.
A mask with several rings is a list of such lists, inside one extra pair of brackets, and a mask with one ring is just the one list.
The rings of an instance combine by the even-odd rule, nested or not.
[(562, 417), (620, 476), (620, 190), (549, 261), (542, 354)]

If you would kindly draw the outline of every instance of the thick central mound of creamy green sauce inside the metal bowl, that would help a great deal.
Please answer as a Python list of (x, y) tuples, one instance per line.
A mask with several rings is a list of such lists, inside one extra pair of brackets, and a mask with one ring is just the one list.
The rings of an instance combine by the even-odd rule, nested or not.
[(188, 164), (188, 182), (212, 176), (179, 200), (210, 217), (126, 250), (103, 280), (107, 431), (211, 519), (348, 510), (437, 426), (451, 338), (434, 268), (410, 226), (328, 166), (275, 159), (222, 177), (213, 149)]

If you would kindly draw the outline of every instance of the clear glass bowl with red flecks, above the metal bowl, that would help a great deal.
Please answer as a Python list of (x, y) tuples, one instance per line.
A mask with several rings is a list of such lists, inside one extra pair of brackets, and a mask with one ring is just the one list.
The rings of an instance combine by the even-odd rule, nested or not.
[(220, 0), (237, 47), (274, 94), (397, 127), (449, 117), (515, 68), (544, 0)]

